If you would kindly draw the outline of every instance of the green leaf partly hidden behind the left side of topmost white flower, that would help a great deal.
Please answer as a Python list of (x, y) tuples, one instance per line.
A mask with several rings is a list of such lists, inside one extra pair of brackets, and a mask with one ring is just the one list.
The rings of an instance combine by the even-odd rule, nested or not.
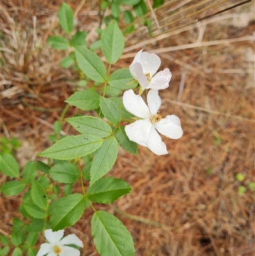
[(120, 70), (116, 70), (112, 75), (110, 75), (108, 84), (119, 89), (131, 89), (137, 86), (137, 84), (127, 84), (132, 79), (133, 77), (129, 72), (129, 68), (122, 68)]

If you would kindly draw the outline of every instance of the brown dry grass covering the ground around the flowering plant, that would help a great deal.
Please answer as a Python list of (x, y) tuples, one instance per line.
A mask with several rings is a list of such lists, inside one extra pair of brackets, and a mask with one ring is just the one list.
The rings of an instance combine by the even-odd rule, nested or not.
[[(161, 114), (179, 116), (184, 135), (163, 138), (169, 151), (165, 156), (144, 147), (139, 147), (138, 157), (120, 149), (110, 174), (128, 181), (133, 190), (110, 206), (96, 208), (122, 220), (135, 241), (136, 256), (254, 255), (254, 193), (248, 188), (244, 195), (237, 193), (238, 186), (255, 182), (254, 2), (198, 23), (194, 21), (237, 1), (165, 2), (150, 13), (154, 37), (136, 21), (137, 30), (128, 36), (117, 66), (128, 66), (140, 48), (161, 56), (162, 67), (173, 74), (170, 87), (160, 91)], [(31, 151), (21, 147), (25, 154), (20, 162), (48, 146), (52, 123), (77, 79), (59, 67), (66, 53), (47, 45), (48, 36), (59, 33), (60, 3), (1, 2), (1, 133), (33, 144)], [(89, 42), (95, 40), (97, 3), (68, 3), (75, 10), (77, 29), (89, 32)], [(180, 6), (174, 10), (176, 4)], [(76, 111), (70, 108), (66, 116)], [(67, 124), (63, 130), (72, 132)], [(243, 182), (235, 180), (239, 172)], [(19, 202), (19, 197), (1, 197), (3, 233), (10, 233), (11, 219), (19, 216)], [(91, 216), (92, 210), (86, 210), (68, 229), (83, 239), (84, 256), (98, 255)]]

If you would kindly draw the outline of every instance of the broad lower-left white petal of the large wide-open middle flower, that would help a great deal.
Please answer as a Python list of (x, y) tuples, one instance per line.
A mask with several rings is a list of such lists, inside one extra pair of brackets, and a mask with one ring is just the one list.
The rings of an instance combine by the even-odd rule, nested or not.
[(149, 119), (143, 119), (135, 121), (134, 123), (125, 126), (125, 131), (129, 140), (136, 142), (137, 144), (147, 147), (147, 140), (150, 133), (152, 123)]

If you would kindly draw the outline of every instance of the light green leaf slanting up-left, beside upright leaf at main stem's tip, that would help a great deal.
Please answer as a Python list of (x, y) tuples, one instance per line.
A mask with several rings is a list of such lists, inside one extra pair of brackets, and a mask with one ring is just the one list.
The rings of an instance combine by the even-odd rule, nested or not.
[(105, 82), (106, 68), (103, 61), (91, 50), (77, 46), (75, 47), (75, 56), (78, 66), (87, 77), (96, 82)]

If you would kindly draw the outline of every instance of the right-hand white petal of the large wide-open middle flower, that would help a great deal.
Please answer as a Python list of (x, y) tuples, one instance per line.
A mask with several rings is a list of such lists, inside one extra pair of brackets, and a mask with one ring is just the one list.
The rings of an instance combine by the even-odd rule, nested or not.
[(157, 131), (170, 139), (179, 139), (182, 137), (182, 127), (180, 126), (180, 119), (175, 115), (168, 115), (157, 124), (155, 124)]

